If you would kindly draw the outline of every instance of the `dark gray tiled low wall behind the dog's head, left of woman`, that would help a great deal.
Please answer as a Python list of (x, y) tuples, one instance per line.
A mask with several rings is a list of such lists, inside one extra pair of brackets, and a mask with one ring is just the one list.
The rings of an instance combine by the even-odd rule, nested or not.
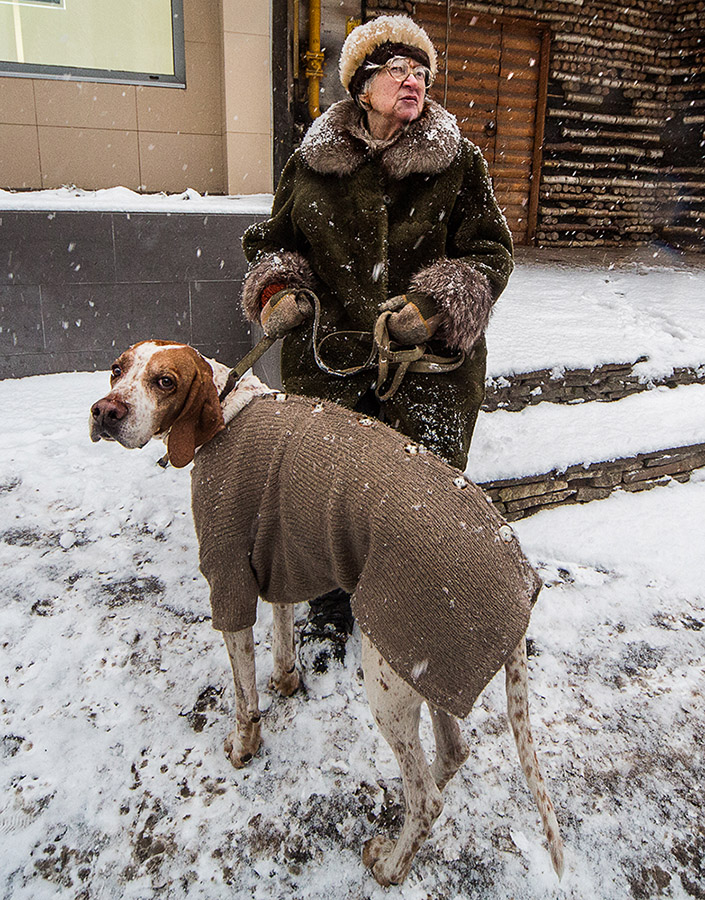
[(261, 218), (0, 211), (0, 378), (103, 369), (148, 338), (236, 362), (240, 242)]

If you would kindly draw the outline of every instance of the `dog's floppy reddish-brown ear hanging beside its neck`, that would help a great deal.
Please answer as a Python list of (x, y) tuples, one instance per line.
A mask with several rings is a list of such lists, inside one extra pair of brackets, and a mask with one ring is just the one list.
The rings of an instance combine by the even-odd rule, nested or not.
[(208, 363), (198, 357), (188, 395), (166, 440), (169, 462), (177, 469), (187, 466), (196, 447), (214, 438), (225, 428), (218, 391)]

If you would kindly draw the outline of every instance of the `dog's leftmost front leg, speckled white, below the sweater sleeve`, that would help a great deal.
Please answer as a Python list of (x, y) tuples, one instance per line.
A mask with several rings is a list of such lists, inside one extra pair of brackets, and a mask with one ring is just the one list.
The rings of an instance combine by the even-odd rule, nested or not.
[(225, 739), (225, 755), (236, 769), (246, 766), (260, 745), (260, 711), (255, 678), (255, 641), (251, 628), (224, 631), (235, 685), (236, 728)]

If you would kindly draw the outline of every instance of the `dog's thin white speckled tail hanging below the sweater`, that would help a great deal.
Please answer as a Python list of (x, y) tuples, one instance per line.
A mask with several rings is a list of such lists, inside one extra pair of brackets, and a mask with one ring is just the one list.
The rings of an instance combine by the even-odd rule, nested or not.
[(551, 862), (556, 874), (563, 875), (563, 841), (553, 803), (548, 796), (539, 761), (534, 749), (534, 738), (529, 721), (528, 674), (526, 640), (524, 638), (504, 665), (507, 688), (507, 715), (514, 732), (519, 760), (524, 770), (529, 790), (539, 808), (543, 830), (548, 841)]

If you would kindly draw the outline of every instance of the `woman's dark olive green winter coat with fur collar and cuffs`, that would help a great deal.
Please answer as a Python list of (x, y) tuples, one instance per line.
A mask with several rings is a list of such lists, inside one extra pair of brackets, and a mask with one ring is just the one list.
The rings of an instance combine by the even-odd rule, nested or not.
[[(477, 147), (455, 118), (427, 102), (391, 142), (375, 142), (351, 100), (311, 126), (282, 174), (272, 216), (247, 230), (251, 267), (243, 307), (257, 321), (272, 284), (308, 287), (321, 300), (319, 337), (372, 331), (380, 305), (415, 292), (430, 298), (442, 324), (434, 353), (468, 352), (452, 373), (407, 374), (383, 405), (385, 421), (463, 468), (484, 395), (485, 344), (492, 304), (512, 269), (512, 241)], [(350, 378), (321, 371), (311, 323), (282, 347), (286, 390), (353, 408), (376, 370)], [(363, 362), (369, 339), (330, 338), (321, 356), (333, 368)]]

